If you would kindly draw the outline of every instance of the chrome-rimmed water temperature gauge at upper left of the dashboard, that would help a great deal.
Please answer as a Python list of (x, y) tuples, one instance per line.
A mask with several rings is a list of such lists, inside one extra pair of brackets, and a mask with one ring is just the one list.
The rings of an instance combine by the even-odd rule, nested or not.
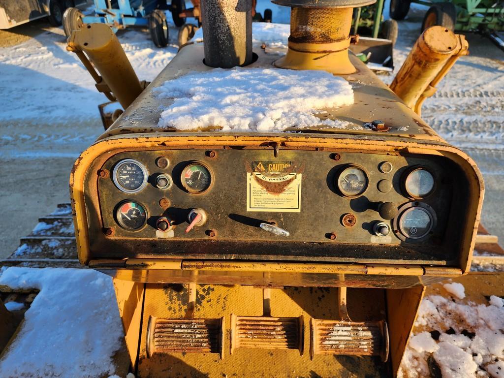
[(147, 176), (147, 169), (133, 159), (119, 161), (112, 172), (115, 186), (125, 193), (140, 192), (147, 185)]

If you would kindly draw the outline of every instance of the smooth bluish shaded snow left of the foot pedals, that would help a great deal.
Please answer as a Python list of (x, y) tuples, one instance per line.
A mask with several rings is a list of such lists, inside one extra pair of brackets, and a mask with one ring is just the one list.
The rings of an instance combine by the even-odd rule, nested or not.
[(0, 285), (40, 290), (0, 359), (2, 377), (97, 377), (115, 372), (123, 338), (111, 279), (91, 269), (8, 268)]

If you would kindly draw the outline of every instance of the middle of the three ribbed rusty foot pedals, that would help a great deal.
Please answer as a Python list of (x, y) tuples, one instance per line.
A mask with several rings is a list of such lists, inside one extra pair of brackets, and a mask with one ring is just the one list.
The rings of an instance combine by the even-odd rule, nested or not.
[(231, 353), (236, 348), (298, 349), (302, 355), (302, 318), (231, 315)]

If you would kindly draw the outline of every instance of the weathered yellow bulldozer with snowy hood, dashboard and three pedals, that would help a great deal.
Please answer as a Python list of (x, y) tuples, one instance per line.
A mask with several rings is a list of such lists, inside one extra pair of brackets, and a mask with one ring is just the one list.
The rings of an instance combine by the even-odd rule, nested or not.
[[(78, 256), (113, 277), (136, 376), (395, 376), (426, 286), (469, 272), (482, 177), (420, 117), (468, 44), (427, 29), (387, 86), (349, 50), (373, 2), (274, 0), (291, 7), (279, 54), (253, 43), (251, 0), (204, 1), (203, 41), (150, 84), (108, 26), (69, 37), (115, 101), (71, 173)], [(282, 130), (170, 123), (165, 83), (198, 76), (198, 96), (265, 70), (329, 72), (353, 99)]]

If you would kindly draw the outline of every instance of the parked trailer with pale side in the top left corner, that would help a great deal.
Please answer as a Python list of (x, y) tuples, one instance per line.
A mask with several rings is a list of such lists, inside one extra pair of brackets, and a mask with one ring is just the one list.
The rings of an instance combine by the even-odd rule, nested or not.
[(0, 29), (10, 29), (47, 17), (52, 26), (61, 25), (67, 8), (86, 4), (73, 0), (0, 0)]

